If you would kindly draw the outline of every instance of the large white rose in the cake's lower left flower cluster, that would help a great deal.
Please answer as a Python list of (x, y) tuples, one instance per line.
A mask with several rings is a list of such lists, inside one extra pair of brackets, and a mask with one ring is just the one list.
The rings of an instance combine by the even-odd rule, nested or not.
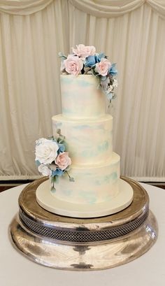
[(57, 157), (58, 144), (55, 141), (45, 139), (44, 141), (38, 140), (40, 143), (36, 145), (36, 161), (41, 164), (51, 164)]

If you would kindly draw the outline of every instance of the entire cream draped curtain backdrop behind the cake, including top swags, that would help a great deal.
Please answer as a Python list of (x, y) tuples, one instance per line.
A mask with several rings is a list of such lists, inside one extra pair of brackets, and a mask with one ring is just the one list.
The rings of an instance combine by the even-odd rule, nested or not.
[(78, 43), (117, 62), (122, 175), (165, 181), (163, 0), (0, 0), (0, 180), (38, 178), (35, 141), (61, 112), (58, 52)]

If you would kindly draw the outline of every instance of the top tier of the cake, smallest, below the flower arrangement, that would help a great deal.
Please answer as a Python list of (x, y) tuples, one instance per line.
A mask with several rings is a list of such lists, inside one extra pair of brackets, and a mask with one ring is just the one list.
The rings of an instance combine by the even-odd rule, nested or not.
[(62, 115), (72, 119), (94, 119), (105, 115), (105, 96), (99, 78), (91, 75), (62, 75)]

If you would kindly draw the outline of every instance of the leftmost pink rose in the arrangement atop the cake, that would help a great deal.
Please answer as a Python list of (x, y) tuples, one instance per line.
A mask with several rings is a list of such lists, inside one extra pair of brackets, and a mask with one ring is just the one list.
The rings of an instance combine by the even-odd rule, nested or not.
[(64, 59), (64, 67), (67, 73), (78, 76), (78, 73), (80, 73), (83, 67), (82, 59), (77, 56), (69, 55), (67, 59)]

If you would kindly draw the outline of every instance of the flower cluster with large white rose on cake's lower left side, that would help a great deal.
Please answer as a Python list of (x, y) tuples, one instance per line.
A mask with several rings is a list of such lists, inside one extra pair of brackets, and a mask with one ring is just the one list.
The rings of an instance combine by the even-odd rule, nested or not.
[[(49, 176), (51, 178), (51, 191), (55, 192), (55, 181), (58, 176), (66, 173), (69, 176), (69, 169), (71, 165), (71, 158), (69, 152), (65, 152), (64, 136), (61, 134), (60, 129), (57, 130), (58, 138), (50, 137), (40, 138), (36, 141), (36, 165), (38, 171), (43, 176)], [(69, 176), (71, 182), (74, 181)]]

